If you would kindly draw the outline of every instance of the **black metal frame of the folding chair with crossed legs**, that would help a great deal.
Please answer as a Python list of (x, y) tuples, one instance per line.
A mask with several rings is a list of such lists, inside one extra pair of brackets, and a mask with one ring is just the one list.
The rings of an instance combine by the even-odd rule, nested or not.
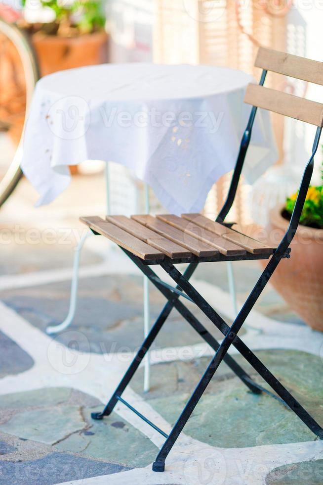
[[(262, 76), (260, 79), (260, 86), (263, 86), (266, 78), (267, 70), (262, 71)], [(236, 167), (233, 173), (232, 182), (230, 185), (229, 193), (227, 199), (221, 209), (216, 221), (225, 224), (224, 219), (227, 216), (230, 208), (235, 199), (237, 193), (239, 179), (242, 173), (243, 162), (247, 152), (247, 148), (250, 142), (252, 127), (257, 112), (257, 107), (252, 106), (247, 127), (242, 136), (242, 141), (240, 145), (240, 151), (236, 163)], [(192, 286), (189, 282), (191, 276), (196, 270), (200, 262), (207, 262), (205, 258), (196, 258), (193, 262), (190, 262), (186, 271), (182, 274), (174, 266), (174, 260), (169, 257), (165, 257), (162, 261), (144, 261), (136, 255), (132, 254), (126, 249), (121, 248), (127, 256), (137, 265), (137, 267), (146, 275), (151, 283), (161, 291), (161, 293), (167, 299), (167, 303), (163, 307), (161, 314), (157, 318), (155, 324), (153, 325), (149, 335), (143, 341), (141, 347), (139, 348), (136, 356), (131, 362), (128, 370), (124, 374), (119, 386), (116, 388), (109, 402), (105, 406), (104, 410), (100, 413), (92, 413), (93, 419), (103, 419), (104, 416), (108, 416), (114, 409), (118, 401), (126, 405), (130, 410), (132, 410), (137, 416), (142, 418), (146, 423), (152, 426), (156, 431), (158, 431), (162, 436), (164, 436), (165, 442), (162, 445), (160, 452), (158, 453), (155, 462), (153, 463), (153, 470), (155, 472), (163, 472), (165, 468), (165, 459), (170, 452), (172, 446), (174, 445), (176, 439), (183, 430), (186, 422), (191, 416), (194, 408), (198, 404), (200, 398), (213, 375), (215, 374), (217, 368), (221, 364), (222, 360), (230, 367), (230, 369), (242, 380), (242, 382), (249, 388), (250, 391), (260, 394), (266, 392), (270, 394), (275, 399), (282, 402), (287, 408), (292, 410), (303, 422), (304, 424), (319, 438), (323, 439), (323, 429), (321, 426), (312, 418), (312, 416), (301, 406), (301, 404), (288, 392), (286, 388), (280, 383), (280, 381), (267, 369), (267, 367), (256, 357), (256, 355), (243, 343), (243, 341), (238, 337), (238, 332), (241, 329), (245, 319), (256, 303), (259, 295), (268, 283), (271, 275), (275, 271), (279, 262), (283, 258), (290, 257), (289, 244), (292, 241), (297, 227), (299, 225), (300, 216), (302, 213), (303, 205), (306, 199), (306, 194), (310, 186), (311, 177), (314, 168), (314, 155), (318, 149), (322, 127), (318, 127), (315, 135), (315, 140), (313, 144), (312, 154), (306, 165), (302, 181), (299, 188), (299, 193), (296, 199), (295, 208), (292, 213), (288, 229), (283, 236), (282, 241), (279, 246), (275, 249), (274, 254), (270, 258), (265, 270), (258, 279), (253, 290), (246, 299), (242, 309), (238, 313), (236, 319), (232, 323), (231, 327), (226, 324), (226, 322), (221, 318), (221, 316), (212, 308), (212, 306), (202, 297), (202, 295)], [(93, 231), (95, 232), (95, 231)], [(96, 233), (97, 234), (97, 233)], [(227, 258), (230, 259), (230, 258)], [(245, 259), (232, 258), (232, 259)], [(248, 258), (250, 259), (250, 257)], [(254, 258), (256, 259), (256, 258)], [(210, 260), (210, 259), (208, 259)], [(177, 263), (179, 261), (175, 261)], [(184, 261), (182, 261), (184, 262)], [(151, 265), (159, 264), (163, 270), (171, 277), (171, 279), (176, 283), (176, 287), (171, 287), (170, 285), (163, 282), (156, 273), (151, 269)], [(214, 337), (203, 327), (201, 322), (193, 315), (193, 313), (179, 300), (182, 296), (191, 302), (194, 302), (209, 318), (209, 320), (222, 332), (224, 339), (219, 343)], [(129, 384), (134, 373), (138, 369), (140, 363), (145, 357), (150, 346), (156, 339), (161, 327), (163, 326), (165, 320), (169, 316), (171, 310), (176, 308), (176, 310), (182, 315), (182, 317), (191, 325), (191, 327), (197, 331), (197, 333), (204, 339), (215, 351), (214, 357), (211, 359), (209, 365), (207, 366), (199, 384), (192, 393), (190, 399), (187, 401), (184, 409), (182, 410), (178, 420), (173, 426), (169, 435), (164, 433), (160, 428), (158, 428), (154, 423), (143, 416), (138, 410), (133, 408), (128, 402), (122, 399), (121, 395), (124, 389)], [(233, 345), (244, 359), (253, 367), (253, 369), (264, 379), (264, 381), (276, 392), (276, 394), (263, 388), (256, 382), (254, 382), (248, 374), (242, 369), (242, 367), (228, 354), (230, 346)]]

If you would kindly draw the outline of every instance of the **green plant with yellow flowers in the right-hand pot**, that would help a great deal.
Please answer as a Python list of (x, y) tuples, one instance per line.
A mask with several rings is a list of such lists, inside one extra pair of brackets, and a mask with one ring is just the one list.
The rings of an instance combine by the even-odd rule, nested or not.
[[(323, 170), (321, 174), (323, 181)], [(287, 197), (285, 210), (290, 215), (294, 210), (297, 195), (298, 191), (290, 197)], [(304, 226), (323, 229), (323, 185), (310, 186), (306, 195), (300, 223)]]

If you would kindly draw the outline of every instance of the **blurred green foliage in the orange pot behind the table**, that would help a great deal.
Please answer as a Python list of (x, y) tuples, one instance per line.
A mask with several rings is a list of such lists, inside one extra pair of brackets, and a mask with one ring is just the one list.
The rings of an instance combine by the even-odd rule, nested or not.
[[(23, 0), (23, 6), (25, 2)], [(41, 0), (41, 5), (53, 11), (55, 20), (33, 25), (34, 32), (70, 37), (102, 30), (105, 24), (100, 0)]]

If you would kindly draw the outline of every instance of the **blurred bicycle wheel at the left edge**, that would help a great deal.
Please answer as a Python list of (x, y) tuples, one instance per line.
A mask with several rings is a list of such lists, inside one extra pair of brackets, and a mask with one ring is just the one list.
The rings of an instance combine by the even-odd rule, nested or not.
[(22, 172), (22, 133), (39, 70), (28, 39), (0, 18), (0, 206)]

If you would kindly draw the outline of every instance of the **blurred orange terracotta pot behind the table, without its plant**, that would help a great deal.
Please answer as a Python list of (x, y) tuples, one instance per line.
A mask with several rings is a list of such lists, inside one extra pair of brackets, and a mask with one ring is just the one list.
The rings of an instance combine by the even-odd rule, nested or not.
[(106, 32), (78, 37), (60, 37), (37, 32), (32, 43), (37, 52), (40, 74), (107, 62)]

